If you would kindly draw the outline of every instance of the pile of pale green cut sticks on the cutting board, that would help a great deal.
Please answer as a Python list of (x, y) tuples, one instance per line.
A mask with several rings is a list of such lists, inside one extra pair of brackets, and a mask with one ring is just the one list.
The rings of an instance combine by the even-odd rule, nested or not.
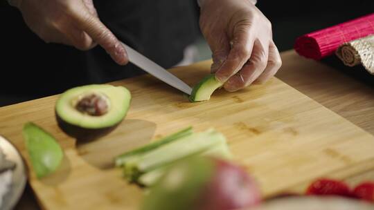
[(116, 166), (123, 168), (129, 182), (150, 186), (163, 175), (163, 168), (193, 155), (231, 158), (222, 133), (214, 129), (192, 133), (191, 128), (186, 128), (163, 140), (119, 155), (115, 161)]

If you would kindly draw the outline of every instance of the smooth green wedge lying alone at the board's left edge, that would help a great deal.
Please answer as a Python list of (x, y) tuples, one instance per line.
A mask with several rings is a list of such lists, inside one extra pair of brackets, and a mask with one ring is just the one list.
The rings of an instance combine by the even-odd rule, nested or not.
[(32, 122), (24, 125), (22, 134), (37, 178), (53, 173), (64, 157), (60, 144), (51, 134)]

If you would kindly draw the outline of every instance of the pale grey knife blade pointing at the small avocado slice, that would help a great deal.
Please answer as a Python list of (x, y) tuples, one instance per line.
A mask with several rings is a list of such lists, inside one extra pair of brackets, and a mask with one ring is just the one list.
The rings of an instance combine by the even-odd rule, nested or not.
[(129, 58), (129, 61), (132, 62), (132, 64), (145, 70), (146, 72), (150, 73), (150, 75), (153, 75), (154, 77), (160, 79), (166, 84), (169, 84), (170, 86), (175, 87), (178, 90), (187, 93), (188, 95), (191, 95), (192, 88), (190, 88), (190, 86), (181, 81), (181, 79), (175, 77), (175, 75), (172, 75), (172, 73), (168, 72), (168, 70), (162, 68), (161, 66), (154, 63), (154, 61), (151, 61), (144, 55), (141, 55), (141, 53), (138, 53), (133, 48), (130, 48), (130, 46), (127, 46), (124, 43), (123, 46), (125, 46), (127, 56)]

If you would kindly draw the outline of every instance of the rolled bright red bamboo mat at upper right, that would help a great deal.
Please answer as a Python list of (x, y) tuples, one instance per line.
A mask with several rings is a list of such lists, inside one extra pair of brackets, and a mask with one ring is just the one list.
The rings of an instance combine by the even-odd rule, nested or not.
[(373, 34), (374, 13), (371, 13), (303, 35), (296, 39), (294, 48), (299, 55), (319, 60), (334, 54), (341, 44)]

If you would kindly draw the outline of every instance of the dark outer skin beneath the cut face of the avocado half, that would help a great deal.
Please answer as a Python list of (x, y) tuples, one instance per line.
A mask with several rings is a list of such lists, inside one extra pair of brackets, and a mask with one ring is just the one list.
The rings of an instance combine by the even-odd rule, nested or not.
[[(89, 142), (92, 140), (96, 140), (99, 137), (103, 137), (104, 135), (112, 132), (123, 121), (121, 120), (117, 124), (105, 128), (83, 128), (80, 126), (69, 124), (69, 122), (65, 122), (59, 115), (57, 115), (56, 111), (55, 116), (57, 124), (62, 129), (62, 131), (64, 131), (71, 137), (75, 137), (80, 142)], [(123, 117), (123, 119), (125, 119), (125, 117)]]

